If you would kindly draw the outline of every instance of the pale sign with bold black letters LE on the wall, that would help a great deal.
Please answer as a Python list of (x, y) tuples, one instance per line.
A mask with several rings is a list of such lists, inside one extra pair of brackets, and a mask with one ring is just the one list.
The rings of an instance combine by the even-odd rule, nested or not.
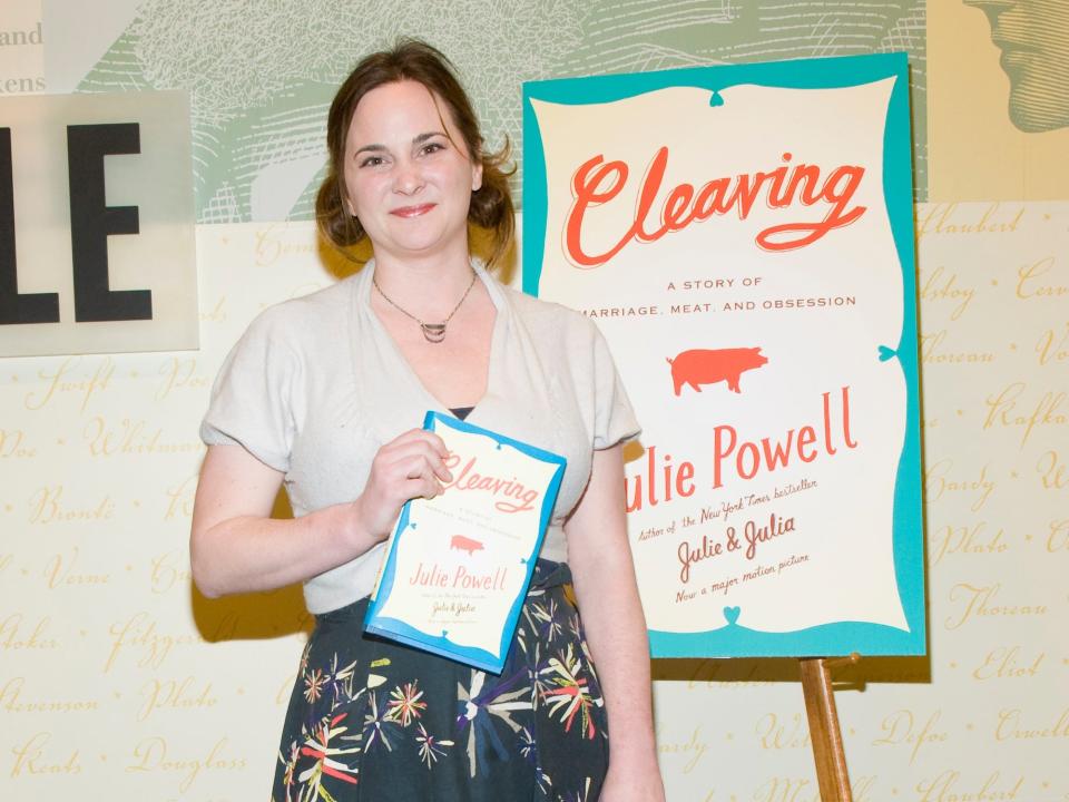
[(199, 343), (185, 92), (0, 97), (0, 354)]

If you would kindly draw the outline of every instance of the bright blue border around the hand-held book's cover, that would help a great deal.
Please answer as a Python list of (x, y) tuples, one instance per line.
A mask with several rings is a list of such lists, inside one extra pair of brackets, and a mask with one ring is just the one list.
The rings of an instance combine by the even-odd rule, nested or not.
[[(523, 578), (523, 585), (513, 600), (512, 606), (509, 608), (504, 626), (501, 629), (501, 640), (498, 644), (497, 654), (473, 646), (461, 646), (445, 637), (448, 633), (443, 633), (443, 635), (431, 635), (422, 629), (416, 629), (400, 618), (382, 615), (382, 606), (390, 597), (391, 590), (393, 590), (393, 581), (398, 573), (398, 551), (391, 547), (390, 556), (386, 558), (386, 565), (383, 568), (382, 586), (379, 588), (379, 593), (375, 594), (375, 598), (367, 605), (364, 628), (373, 635), (398, 640), (408, 646), (431, 652), (442, 657), (449, 657), (450, 659), (474, 666), (491, 674), (500, 674), (504, 667), (506, 657), (508, 657), (509, 654), (509, 645), (512, 643), (512, 634), (516, 632), (516, 625), (520, 618), (520, 610), (523, 608), (523, 602), (527, 599), (527, 588), (531, 584), (531, 575), (534, 573), (534, 557), (541, 551), (542, 539), (546, 537), (546, 528), (549, 526), (549, 518), (552, 515), (553, 505), (557, 503), (557, 493), (560, 491), (560, 482), (565, 476), (565, 468), (568, 461), (560, 454), (555, 454), (551, 451), (546, 451), (536, 446), (529, 446), (519, 440), (498, 434), (489, 429), (462, 421), (459, 418), (451, 418), (441, 412), (429, 411), (423, 419), (423, 428), (428, 431), (435, 431), (440, 427), (449, 427), (471, 434), (481, 434), (498, 443), (498, 448), (509, 446), (532, 459), (557, 466), (549, 480), (549, 486), (546, 488), (546, 495), (542, 497), (542, 506), (539, 510), (538, 519), (538, 537), (534, 539), (533, 550), (527, 556), (527, 559), (523, 560), (527, 573)], [(396, 544), (401, 537), (404, 537), (409, 529), (409, 508), (411, 506), (412, 502), (408, 501), (404, 507), (401, 508), (401, 516), (398, 518), (398, 525), (393, 532), (393, 544)]]

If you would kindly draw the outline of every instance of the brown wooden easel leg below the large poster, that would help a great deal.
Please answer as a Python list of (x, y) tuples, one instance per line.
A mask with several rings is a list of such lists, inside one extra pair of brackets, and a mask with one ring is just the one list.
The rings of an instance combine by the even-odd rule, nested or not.
[(802, 695), (805, 697), (805, 714), (810, 721), (810, 740), (813, 742), (813, 760), (816, 763), (816, 781), (821, 802), (853, 802), (850, 776), (846, 772), (846, 755), (843, 752), (843, 733), (838, 726), (835, 696), (832, 691), (832, 669), (853, 665), (861, 655), (827, 659), (803, 657)]

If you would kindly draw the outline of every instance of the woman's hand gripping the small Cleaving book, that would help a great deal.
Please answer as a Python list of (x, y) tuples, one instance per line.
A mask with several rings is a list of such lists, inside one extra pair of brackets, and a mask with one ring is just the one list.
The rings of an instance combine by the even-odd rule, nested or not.
[(353, 502), (359, 529), (372, 544), (390, 537), (405, 501), (434, 498), (453, 477), (445, 467), (449, 451), (434, 432), (412, 429), (379, 449), (364, 492)]

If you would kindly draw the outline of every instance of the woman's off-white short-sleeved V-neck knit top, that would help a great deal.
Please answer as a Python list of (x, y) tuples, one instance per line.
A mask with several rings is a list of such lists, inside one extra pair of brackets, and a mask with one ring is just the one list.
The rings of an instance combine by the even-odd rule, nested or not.
[[(590, 478), (591, 454), (638, 433), (605, 339), (583, 315), (501, 285), (478, 262), (497, 307), (477, 426), (568, 460), (541, 557), (567, 560), (561, 525)], [(261, 313), (231, 351), (200, 426), (285, 475), (295, 516), (352, 501), (379, 448), (448, 412), (371, 309), (370, 262), (356, 275)], [(367, 596), (384, 544), (308, 579), (315, 614)]]

